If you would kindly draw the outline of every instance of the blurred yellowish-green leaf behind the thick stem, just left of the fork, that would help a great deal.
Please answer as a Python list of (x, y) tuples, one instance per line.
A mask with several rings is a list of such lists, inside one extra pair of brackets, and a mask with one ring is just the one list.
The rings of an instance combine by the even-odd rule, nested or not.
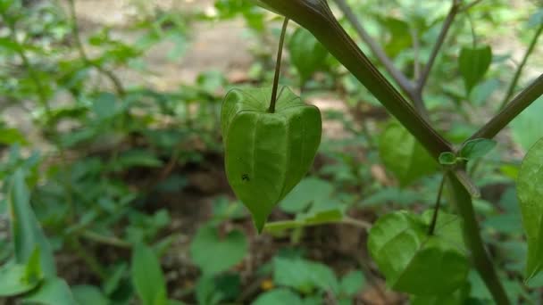
[(385, 167), (396, 175), (400, 185), (409, 185), (438, 169), (437, 162), (396, 121), (390, 123), (380, 136), (379, 154)]

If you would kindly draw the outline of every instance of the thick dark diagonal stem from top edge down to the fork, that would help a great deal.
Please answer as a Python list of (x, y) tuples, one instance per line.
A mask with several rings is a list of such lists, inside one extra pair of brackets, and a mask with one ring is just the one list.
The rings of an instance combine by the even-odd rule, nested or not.
[(324, 0), (261, 0), (276, 12), (297, 21), (313, 33), (322, 45), (374, 95), (438, 160), (451, 145), (422, 118), (347, 35)]

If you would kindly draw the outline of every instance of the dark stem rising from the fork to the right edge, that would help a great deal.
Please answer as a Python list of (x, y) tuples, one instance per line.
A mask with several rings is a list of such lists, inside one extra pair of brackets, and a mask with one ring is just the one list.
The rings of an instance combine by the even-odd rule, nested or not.
[(522, 90), (519, 95), (516, 95), (511, 103), (507, 103), (502, 111), (485, 124), (485, 126), (480, 128), (467, 141), (481, 137), (487, 139), (493, 138), (541, 95), (543, 95), (543, 74), (539, 75), (539, 78), (536, 78), (536, 80), (534, 80), (530, 86)]

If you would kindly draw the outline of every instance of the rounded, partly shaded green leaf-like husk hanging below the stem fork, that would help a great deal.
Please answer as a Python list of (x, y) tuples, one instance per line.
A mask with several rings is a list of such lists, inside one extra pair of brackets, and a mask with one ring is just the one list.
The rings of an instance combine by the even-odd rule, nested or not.
[(381, 217), (370, 230), (370, 254), (392, 289), (439, 295), (464, 284), (470, 265), (459, 218), (439, 212), (434, 235), (428, 235), (430, 218), (430, 213), (419, 217), (397, 211)]

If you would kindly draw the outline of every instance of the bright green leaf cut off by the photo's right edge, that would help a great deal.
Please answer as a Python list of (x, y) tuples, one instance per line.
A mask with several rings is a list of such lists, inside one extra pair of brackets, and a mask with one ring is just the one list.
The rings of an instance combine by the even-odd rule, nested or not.
[(522, 225), (528, 242), (526, 280), (543, 268), (543, 138), (534, 144), (522, 161), (516, 182)]

